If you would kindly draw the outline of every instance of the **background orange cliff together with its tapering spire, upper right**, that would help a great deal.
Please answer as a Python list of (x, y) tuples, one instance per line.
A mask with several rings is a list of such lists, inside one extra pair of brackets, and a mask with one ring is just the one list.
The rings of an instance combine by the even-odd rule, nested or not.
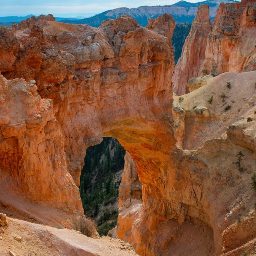
[(208, 16), (198, 8), (175, 66), (172, 81), (178, 95), (189, 92), (192, 77), (256, 70), (256, 1), (220, 4), (212, 29)]

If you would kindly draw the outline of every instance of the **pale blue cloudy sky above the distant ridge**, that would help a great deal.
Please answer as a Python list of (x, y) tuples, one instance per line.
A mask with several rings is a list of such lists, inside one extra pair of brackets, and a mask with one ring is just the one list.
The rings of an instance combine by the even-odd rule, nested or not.
[[(0, 0), (0, 16), (100, 13), (118, 7), (174, 4), (179, 0)], [(200, 0), (187, 0), (200, 2)]]

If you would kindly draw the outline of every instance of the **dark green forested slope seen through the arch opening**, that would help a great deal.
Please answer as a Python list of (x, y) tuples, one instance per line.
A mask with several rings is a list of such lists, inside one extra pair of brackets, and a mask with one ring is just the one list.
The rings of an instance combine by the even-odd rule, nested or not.
[(108, 137), (86, 150), (79, 191), (84, 214), (96, 221), (100, 236), (106, 236), (116, 225), (124, 154), (118, 140)]

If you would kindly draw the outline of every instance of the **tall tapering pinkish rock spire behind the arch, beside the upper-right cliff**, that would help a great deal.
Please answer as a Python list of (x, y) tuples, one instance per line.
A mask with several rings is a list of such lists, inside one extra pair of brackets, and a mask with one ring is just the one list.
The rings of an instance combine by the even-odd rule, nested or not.
[(177, 95), (188, 93), (188, 80), (193, 76), (201, 75), (205, 60), (207, 36), (211, 30), (209, 6), (202, 4), (198, 7), (196, 18), (193, 20), (182, 48), (182, 54), (174, 68), (172, 82), (174, 92)]

